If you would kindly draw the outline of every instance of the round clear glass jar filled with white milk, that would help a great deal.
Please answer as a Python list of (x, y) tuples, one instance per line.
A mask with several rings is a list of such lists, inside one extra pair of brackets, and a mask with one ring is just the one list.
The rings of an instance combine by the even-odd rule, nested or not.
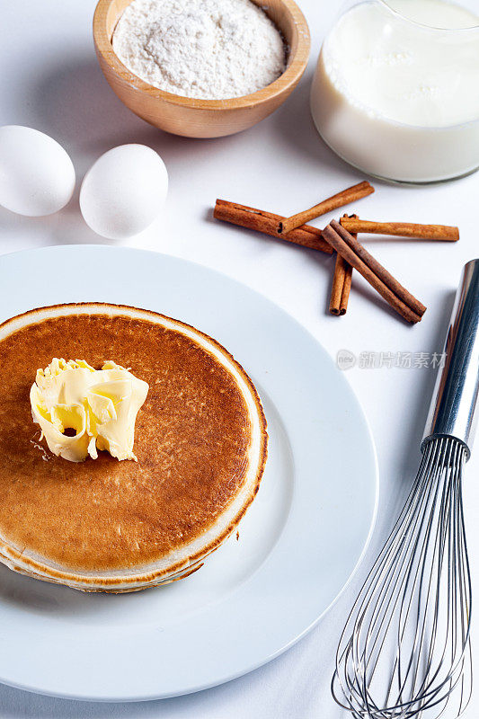
[(466, 5), (348, 4), (324, 40), (311, 93), (315, 125), (344, 160), (395, 182), (479, 168), (479, 0)]

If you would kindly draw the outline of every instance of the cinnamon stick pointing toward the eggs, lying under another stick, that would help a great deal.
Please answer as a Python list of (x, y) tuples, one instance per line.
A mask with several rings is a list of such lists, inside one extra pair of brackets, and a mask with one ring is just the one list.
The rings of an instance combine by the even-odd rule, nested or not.
[[(256, 230), (265, 235), (271, 235), (278, 239), (277, 227), (279, 221), (285, 219), (281, 215), (274, 215), (272, 212), (266, 212), (262, 209), (249, 208), (246, 205), (238, 205), (235, 202), (227, 200), (217, 200), (213, 217), (230, 222), (232, 225), (246, 227), (249, 230)], [(319, 250), (322, 253), (333, 254), (333, 250), (327, 242), (325, 242), (321, 230), (317, 227), (305, 225), (297, 227), (288, 234), (288, 237), (282, 237), (288, 242), (301, 244), (303, 247), (309, 247), (311, 250)]]

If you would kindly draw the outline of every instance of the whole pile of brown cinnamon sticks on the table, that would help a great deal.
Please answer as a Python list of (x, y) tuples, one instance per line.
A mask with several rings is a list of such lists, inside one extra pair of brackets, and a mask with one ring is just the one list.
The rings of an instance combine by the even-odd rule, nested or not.
[(262, 209), (217, 200), (214, 217), (233, 225), (257, 230), (265, 235), (280, 237), (323, 253), (336, 253), (330, 312), (345, 315), (350, 296), (353, 269), (358, 271), (371, 287), (384, 297), (407, 322), (421, 321), (426, 307), (413, 297), (358, 241), (359, 233), (393, 235), (418, 240), (457, 242), (457, 227), (444, 225), (417, 225), (409, 222), (374, 222), (358, 215), (344, 215), (339, 222), (333, 220), (324, 230), (306, 225), (334, 209), (361, 200), (374, 192), (369, 182), (359, 182), (333, 197), (292, 217), (282, 217)]

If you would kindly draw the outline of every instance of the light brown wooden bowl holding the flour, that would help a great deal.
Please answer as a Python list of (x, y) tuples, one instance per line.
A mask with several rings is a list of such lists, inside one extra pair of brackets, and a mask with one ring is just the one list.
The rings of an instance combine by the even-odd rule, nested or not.
[(288, 43), (288, 67), (262, 90), (230, 100), (199, 100), (165, 93), (140, 80), (113, 52), (111, 36), (132, 0), (100, 0), (93, 17), (96, 54), (113, 91), (146, 122), (188, 138), (220, 138), (251, 128), (271, 115), (296, 87), (310, 49), (306, 19), (293, 0), (253, 0), (261, 6)]

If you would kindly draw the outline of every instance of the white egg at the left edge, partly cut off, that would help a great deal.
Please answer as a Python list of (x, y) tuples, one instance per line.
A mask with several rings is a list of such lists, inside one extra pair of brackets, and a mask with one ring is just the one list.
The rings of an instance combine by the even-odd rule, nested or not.
[(65, 207), (75, 190), (75, 169), (61, 145), (38, 129), (0, 128), (0, 205), (40, 217)]

